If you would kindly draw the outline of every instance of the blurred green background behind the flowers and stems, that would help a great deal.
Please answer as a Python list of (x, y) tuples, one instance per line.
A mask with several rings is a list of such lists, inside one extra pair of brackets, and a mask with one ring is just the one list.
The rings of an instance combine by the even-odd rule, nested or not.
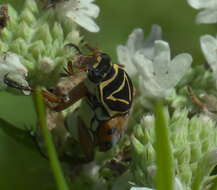
[[(14, 3), (13, 0), (9, 2)], [(20, 0), (16, 6), (22, 7), (22, 2)], [(198, 11), (185, 0), (97, 0), (96, 3), (101, 9), (97, 19), (100, 32), (88, 33), (82, 29), (82, 33), (89, 44), (109, 53), (114, 61), (117, 61), (117, 45), (125, 44), (134, 28), (144, 29), (147, 36), (151, 25), (159, 24), (172, 56), (191, 53), (194, 64), (205, 61), (200, 50), (200, 36), (216, 33), (215, 24), (195, 23)], [(31, 96), (0, 92), (0, 118), (18, 128), (34, 126), (36, 116)], [(55, 189), (48, 161), (39, 154), (27, 132), (14, 131), (10, 124), (0, 121), (0, 189)]]

